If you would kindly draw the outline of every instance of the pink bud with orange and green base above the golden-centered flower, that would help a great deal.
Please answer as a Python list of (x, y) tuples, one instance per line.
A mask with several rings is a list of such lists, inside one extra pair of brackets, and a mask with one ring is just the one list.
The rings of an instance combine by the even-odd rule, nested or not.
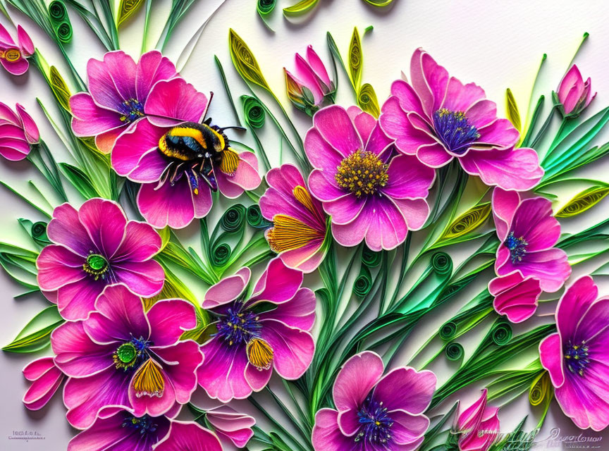
[(307, 58), (296, 54), (296, 75), (283, 68), (288, 97), (297, 109), (309, 116), (321, 106), (334, 103), (336, 87), (328, 77), (326, 66), (315, 53), (313, 47), (307, 47)]

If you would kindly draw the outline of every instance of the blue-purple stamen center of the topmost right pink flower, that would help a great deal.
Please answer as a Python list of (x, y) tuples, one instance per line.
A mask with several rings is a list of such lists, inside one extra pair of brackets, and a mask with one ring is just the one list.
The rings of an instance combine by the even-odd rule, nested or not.
[(480, 137), (463, 111), (450, 111), (442, 108), (433, 113), (433, 128), (442, 144), (453, 154), (464, 154), (469, 144)]

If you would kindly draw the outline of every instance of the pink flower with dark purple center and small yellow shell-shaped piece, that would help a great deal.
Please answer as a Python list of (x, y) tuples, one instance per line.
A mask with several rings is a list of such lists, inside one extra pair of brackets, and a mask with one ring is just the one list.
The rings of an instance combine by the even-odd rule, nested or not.
[(315, 295), (300, 288), (302, 272), (273, 259), (248, 297), (250, 276), (249, 268), (241, 268), (209, 288), (203, 301), (216, 321), (201, 348), (205, 362), (199, 385), (221, 402), (262, 390), (273, 369), (284, 379), (300, 378), (313, 359), (309, 330), (315, 321)]

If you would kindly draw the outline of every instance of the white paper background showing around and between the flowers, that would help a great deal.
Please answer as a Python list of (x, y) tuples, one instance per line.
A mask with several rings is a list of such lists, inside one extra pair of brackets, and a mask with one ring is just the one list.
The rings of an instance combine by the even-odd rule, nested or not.
[[(221, 3), (219, 0), (197, 1), (192, 12), (178, 26), (166, 49), (173, 61), (177, 61), (181, 49), (195, 30), (214, 11), (216, 5)], [(289, 6), (290, 3), (278, 1), (280, 7)], [(161, 23), (169, 4), (169, 0), (154, 1), (155, 25)], [(394, 5), (385, 10), (367, 6), (361, 0), (321, 0), (313, 13), (305, 20), (295, 23), (283, 18), (280, 9), (275, 11), (269, 18), (269, 24), (275, 32), (269, 31), (263, 25), (257, 16), (255, 6), (255, 0), (227, 0), (204, 30), (190, 61), (182, 71), (185, 78), (197, 89), (216, 93), (210, 109), (215, 123), (228, 125), (234, 123), (234, 119), (214, 65), (214, 54), (219, 56), (224, 65), (235, 99), (238, 100), (240, 94), (247, 93), (247, 87), (242, 84), (230, 63), (227, 44), (229, 27), (238, 32), (250, 46), (257, 56), (266, 80), (288, 111), (292, 109), (284, 94), (282, 68), (293, 67), (295, 52), (305, 51), (307, 44), (313, 44), (324, 61), (329, 61), (326, 31), (332, 32), (344, 55), (352, 28), (357, 26), (360, 32), (363, 32), (369, 25), (374, 26), (374, 31), (362, 38), (363, 80), (374, 86), (379, 101), (387, 97), (390, 82), (400, 78), (400, 71), (404, 70), (407, 73), (412, 51), (417, 47), (424, 47), (437, 61), (448, 68), (451, 75), (457, 76), (464, 82), (475, 81), (484, 87), (488, 97), (500, 104), (500, 111), (503, 111), (505, 88), (512, 88), (523, 111), (529, 99), (531, 82), (539, 66), (541, 55), (547, 53), (548, 60), (541, 73), (539, 86), (543, 88), (545, 94), (549, 94), (550, 89), (555, 88), (565, 72), (582, 34), (587, 31), (590, 32), (591, 37), (580, 51), (577, 64), (584, 77), (592, 78), (593, 89), (598, 91), (592, 108), (598, 110), (609, 103), (607, 75), (609, 4), (606, 0), (395, 0)], [(11, 10), (11, 13), (16, 23), (21, 23), (27, 28), (47, 61), (63, 68), (63, 72), (66, 73), (54, 44), (49, 42), (35, 25), (19, 16), (14, 10)], [(84, 77), (87, 59), (101, 57), (103, 49), (90, 30), (82, 25), (80, 19), (73, 13), (70, 16), (75, 28), (75, 38), (69, 46), (69, 53), (76, 68)], [(6, 18), (1, 17), (0, 21), (8, 26)], [(131, 20), (121, 29), (121, 47), (135, 58), (140, 50), (141, 30), (142, 22), (139, 19)], [(154, 47), (156, 42), (154, 35), (160, 30), (159, 25), (152, 27), (149, 48)], [(49, 147), (61, 154), (63, 152), (61, 143), (56, 139), (49, 124), (45, 122), (35, 97), (42, 99), (51, 113), (54, 113), (49, 90), (34, 68), (21, 78), (12, 77), (6, 71), (0, 70), (0, 101), (9, 105), (17, 101), (23, 104), (39, 124), (42, 137)], [(263, 98), (266, 99), (264, 96)], [(345, 106), (353, 103), (352, 92), (342, 73), (339, 73), (338, 103)], [(310, 126), (309, 118), (296, 111), (292, 116), (301, 134), (304, 135)], [(605, 132), (605, 140), (608, 136), (609, 134)], [(267, 126), (261, 137), (271, 163), (277, 164), (278, 135), (271, 126)], [(609, 180), (607, 159), (593, 166), (594, 168), (586, 171), (587, 175), (600, 180)], [(27, 163), (8, 163), (4, 160), (0, 161), (0, 178), (24, 190), (27, 180), (30, 178), (39, 180), (35, 171), (28, 168)], [(73, 199), (78, 199), (78, 196), (74, 196)], [(25, 235), (18, 230), (16, 218), (26, 217), (35, 220), (37, 219), (35, 211), (4, 189), (0, 189), (0, 205), (4, 212), (0, 215), (0, 240), (25, 242)], [(591, 225), (592, 221), (596, 222), (606, 217), (607, 206), (608, 202), (605, 200), (593, 213), (585, 216), (583, 222), (571, 221), (565, 225), (565, 228), (573, 231), (581, 230), (584, 225)], [(574, 274), (596, 266), (598, 264), (577, 268)], [(25, 323), (46, 304), (43, 299), (37, 297), (13, 299), (13, 296), (22, 292), (22, 289), (4, 273), (0, 276), (0, 286), (0, 344), (4, 345), (10, 342)], [(608, 286), (604, 288), (605, 293), (609, 292)], [(443, 313), (442, 317), (426, 321), (424, 326), (417, 328), (417, 334), (409, 340), (405, 353), (414, 351), (426, 339), (427, 334), (433, 333), (438, 324), (445, 321), (458, 307), (453, 305), (450, 311)], [(49, 406), (39, 412), (28, 412), (21, 404), (27, 383), (20, 370), (30, 361), (30, 357), (6, 353), (0, 357), (0, 450), (63, 450), (74, 431), (63, 417), (65, 411), (60, 397), (56, 396)], [(450, 373), (441, 371), (441, 366), (438, 368), (440, 369), (438, 378), (443, 381)], [(476, 396), (476, 390), (469, 390), (462, 397), (465, 402), (470, 402)], [(244, 408), (250, 408), (247, 402), (240, 404)], [(513, 403), (500, 414), (502, 431), (510, 431), (527, 413), (529, 407), (524, 396), (522, 400)], [(535, 422), (530, 421), (529, 428), (533, 427)], [(572, 426), (554, 404), (540, 438), (547, 437), (555, 426), (562, 429), (561, 435), (579, 434), (577, 428)], [(8, 440), (8, 436), (13, 431), (37, 431), (44, 435), (45, 439), (30, 440), (27, 443), (23, 440)], [(605, 442), (609, 440), (607, 433), (586, 432), (584, 435), (601, 437)], [(577, 447), (577, 445), (563, 446), (565, 449)], [(609, 444), (603, 445), (602, 441), (591, 446), (598, 446), (596, 449), (609, 449)], [(540, 443), (539, 447), (560, 449), (560, 445), (556, 443)]]

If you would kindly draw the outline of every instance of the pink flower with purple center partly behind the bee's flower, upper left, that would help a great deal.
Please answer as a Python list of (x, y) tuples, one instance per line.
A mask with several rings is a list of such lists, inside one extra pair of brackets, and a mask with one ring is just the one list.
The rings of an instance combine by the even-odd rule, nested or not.
[(124, 51), (109, 51), (103, 61), (87, 63), (89, 92), (70, 98), (76, 136), (94, 136), (101, 152), (109, 154), (116, 138), (144, 117), (144, 107), (156, 82), (178, 75), (176, 66), (153, 50), (135, 63)]

